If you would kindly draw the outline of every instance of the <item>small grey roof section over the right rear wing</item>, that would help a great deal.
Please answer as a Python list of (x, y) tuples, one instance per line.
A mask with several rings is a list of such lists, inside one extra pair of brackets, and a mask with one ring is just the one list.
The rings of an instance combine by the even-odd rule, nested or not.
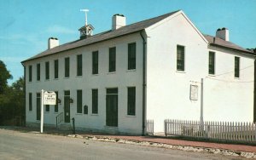
[[(204, 35), (207, 38), (207, 41), (209, 42), (210, 45), (212, 46), (216, 46), (216, 47), (220, 47), (220, 48), (224, 48), (224, 49), (232, 49), (232, 50), (236, 50), (242, 53), (246, 53), (246, 54), (253, 54), (253, 51), (248, 50), (248, 49), (243, 49), (240, 46), (236, 45), (235, 43), (231, 43), (229, 41), (224, 41), (223, 39), (219, 38), (219, 37), (212, 37), (209, 35)], [(255, 54), (253, 54), (255, 55)]]

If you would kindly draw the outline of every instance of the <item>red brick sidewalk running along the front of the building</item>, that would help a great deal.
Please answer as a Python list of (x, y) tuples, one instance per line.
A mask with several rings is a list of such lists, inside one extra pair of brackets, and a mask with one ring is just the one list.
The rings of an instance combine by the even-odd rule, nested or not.
[[(0, 127), (0, 129), (11, 129), (18, 130), (21, 132), (39, 132), (39, 129), (35, 128), (25, 128), (25, 127)], [(60, 131), (56, 129), (44, 129), (44, 134), (72, 134), (72, 131)], [(103, 134), (94, 132), (82, 132), (77, 131), (76, 135), (80, 135), (84, 138), (96, 137), (97, 139), (108, 138), (112, 140), (131, 140), (137, 142), (149, 142), (149, 143), (159, 143), (172, 146), (192, 146), (192, 147), (202, 147), (202, 148), (213, 148), (228, 151), (246, 151), (256, 153), (256, 146), (247, 145), (233, 145), (233, 144), (222, 144), (222, 143), (212, 143), (212, 142), (202, 142), (202, 141), (192, 141), (192, 140), (174, 140), (170, 137), (154, 137), (154, 136), (133, 136), (133, 135), (113, 135), (113, 134)]]

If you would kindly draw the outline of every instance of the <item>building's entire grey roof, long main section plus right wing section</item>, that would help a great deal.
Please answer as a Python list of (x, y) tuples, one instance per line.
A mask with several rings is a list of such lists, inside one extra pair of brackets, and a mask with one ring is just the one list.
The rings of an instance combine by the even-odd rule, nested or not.
[[(135, 32), (138, 32), (138, 31), (143, 31), (148, 26), (152, 26), (155, 23), (159, 22), (160, 20), (164, 20), (168, 16), (170, 16), (172, 14), (175, 14), (179, 11), (180, 10), (177, 10), (177, 11), (174, 11), (174, 12), (169, 13), (169, 14), (163, 14), (163, 15), (160, 15), (158, 17), (154, 17), (152, 19), (143, 20), (143, 21), (131, 24), (131, 25), (123, 26), (123, 27), (120, 27), (117, 30), (104, 31), (102, 33), (96, 34), (96, 35), (91, 36), (91, 37), (87, 37), (85, 39), (79, 39), (79, 40), (76, 40), (76, 41), (73, 41), (73, 42), (70, 42), (70, 43), (65, 43), (65, 44), (57, 46), (53, 49), (47, 49), (47, 50), (45, 50), (44, 52), (42, 52), (40, 54), (37, 54), (37, 55), (27, 59), (27, 60), (22, 61), (21, 63), (24, 63), (24, 62), (29, 61), (29, 60), (38, 59), (38, 58), (41, 58), (41, 57), (44, 57), (44, 56), (48, 56), (50, 54), (57, 54), (57, 53), (60, 53), (62, 51), (66, 51), (66, 50), (69, 50), (69, 49), (76, 49), (76, 48), (87, 46), (87, 45), (90, 45), (90, 44), (93, 44), (93, 43), (100, 43), (102, 41), (106, 41), (106, 40), (113, 39), (113, 38), (116, 38), (116, 37), (125, 36), (125, 35), (135, 33)], [(218, 37), (215, 37), (215, 40), (214, 40), (214, 37), (209, 36), (209, 35), (204, 35), (204, 37), (207, 39), (208, 43), (212, 46), (222, 47), (222, 48), (225, 48), (225, 49), (235, 49), (235, 50), (243, 52), (243, 53), (253, 54), (253, 52), (250, 51), (250, 50), (243, 49), (240, 46), (236, 45), (235, 43), (230, 43), (228, 41), (224, 41), (224, 40), (222, 40)], [(253, 55), (255, 55), (255, 54), (253, 54)]]

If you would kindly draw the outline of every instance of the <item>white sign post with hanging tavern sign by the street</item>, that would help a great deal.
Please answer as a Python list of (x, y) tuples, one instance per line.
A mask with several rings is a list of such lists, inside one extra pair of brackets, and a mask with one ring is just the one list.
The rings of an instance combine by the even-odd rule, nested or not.
[(44, 132), (44, 105), (55, 105), (56, 104), (56, 94), (55, 92), (47, 92), (44, 89), (41, 90), (41, 127), (40, 133)]

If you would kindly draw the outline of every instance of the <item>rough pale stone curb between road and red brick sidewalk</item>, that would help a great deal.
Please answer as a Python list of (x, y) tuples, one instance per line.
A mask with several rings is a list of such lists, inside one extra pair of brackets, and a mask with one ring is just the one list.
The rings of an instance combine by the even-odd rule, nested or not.
[(169, 145), (164, 143), (141, 141), (141, 140), (125, 140), (119, 138), (110, 138), (108, 136), (92, 136), (92, 135), (79, 135), (79, 134), (68, 134), (68, 137), (85, 139), (85, 140), (97, 140), (104, 142), (113, 142), (113, 143), (122, 143), (122, 144), (131, 144), (139, 146), (152, 146), (152, 147), (161, 147), (166, 149), (175, 149), (182, 151), (197, 151), (197, 152), (207, 152), (213, 154), (220, 154), (224, 156), (234, 156), (234, 157), (247, 157), (247, 158), (256, 158), (256, 153), (247, 152), (247, 151), (231, 151), (225, 149), (216, 149), (216, 148), (207, 148), (207, 147), (196, 147), (196, 146), (177, 146)]

